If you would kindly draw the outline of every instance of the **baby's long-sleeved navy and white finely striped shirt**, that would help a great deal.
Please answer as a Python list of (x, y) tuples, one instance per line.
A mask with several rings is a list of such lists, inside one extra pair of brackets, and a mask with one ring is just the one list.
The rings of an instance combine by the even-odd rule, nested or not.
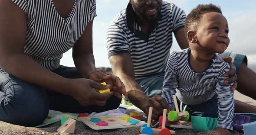
[(197, 105), (217, 95), (217, 127), (233, 130), (231, 125), (234, 112), (233, 84), (224, 84), (223, 74), (230, 70), (230, 64), (215, 54), (209, 67), (196, 73), (190, 66), (190, 48), (171, 53), (165, 75), (162, 97), (174, 108), (173, 95), (182, 103)]

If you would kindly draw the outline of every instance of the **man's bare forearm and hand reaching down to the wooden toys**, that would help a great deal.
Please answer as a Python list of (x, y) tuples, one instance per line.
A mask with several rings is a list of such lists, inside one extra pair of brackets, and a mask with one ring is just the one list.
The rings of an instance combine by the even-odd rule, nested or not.
[(167, 104), (163, 97), (156, 95), (148, 98), (144, 94), (140, 85), (135, 80), (131, 55), (128, 53), (112, 55), (109, 57), (109, 61), (113, 73), (120, 77), (121, 81), (124, 82), (128, 99), (131, 101), (131, 103), (146, 114), (148, 114), (149, 107), (153, 107), (154, 110), (159, 110), (153, 111), (152, 119), (158, 119), (158, 117), (163, 114), (163, 109), (171, 110), (171, 107)]

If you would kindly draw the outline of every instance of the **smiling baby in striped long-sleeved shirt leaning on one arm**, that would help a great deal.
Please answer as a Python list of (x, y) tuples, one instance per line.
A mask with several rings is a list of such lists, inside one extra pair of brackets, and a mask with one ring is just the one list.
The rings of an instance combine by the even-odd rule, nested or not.
[[(220, 7), (198, 5), (187, 16), (185, 35), (190, 48), (171, 53), (164, 75), (162, 97), (174, 108), (173, 95), (190, 115), (218, 118), (217, 130), (233, 130), (233, 84), (224, 84), (230, 64), (217, 53), (230, 43), (228, 23)], [(228, 130), (226, 130), (228, 129)]]

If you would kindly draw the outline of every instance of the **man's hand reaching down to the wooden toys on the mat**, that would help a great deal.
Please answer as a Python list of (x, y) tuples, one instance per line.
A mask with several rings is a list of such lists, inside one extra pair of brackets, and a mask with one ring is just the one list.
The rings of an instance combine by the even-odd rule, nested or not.
[(172, 110), (171, 106), (169, 106), (168, 103), (164, 100), (164, 98), (159, 95), (153, 96), (151, 98), (146, 97), (144, 101), (145, 103), (142, 110), (144, 111), (144, 113), (147, 114), (147, 116), (149, 107), (153, 107), (151, 119), (158, 119), (159, 116), (163, 115), (164, 109), (167, 109), (167, 112)]

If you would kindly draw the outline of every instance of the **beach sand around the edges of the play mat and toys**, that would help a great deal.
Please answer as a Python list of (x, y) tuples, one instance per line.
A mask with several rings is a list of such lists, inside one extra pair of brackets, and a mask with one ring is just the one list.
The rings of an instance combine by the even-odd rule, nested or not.
[[(253, 100), (247, 96), (242, 95), (239, 92), (235, 92), (235, 99), (249, 103), (256, 106), (256, 100)], [(6, 122), (0, 121), (0, 135), (139, 135), (139, 127), (136, 128), (125, 128), (125, 129), (111, 129), (111, 130), (93, 130), (87, 125), (76, 122), (75, 133), (60, 134), (56, 130), (59, 128), (60, 122), (56, 122), (52, 125), (48, 125), (43, 128), (30, 128), (19, 125), (13, 125)], [(176, 135), (217, 135), (217, 132), (208, 131), (196, 133), (191, 129), (174, 129)], [(239, 132), (232, 132), (233, 135), (242, 135)]]

